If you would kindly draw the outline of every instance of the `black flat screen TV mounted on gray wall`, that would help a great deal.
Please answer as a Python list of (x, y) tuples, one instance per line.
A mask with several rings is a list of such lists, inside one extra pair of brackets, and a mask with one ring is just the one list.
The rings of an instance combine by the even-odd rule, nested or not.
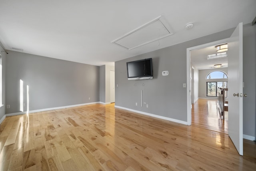
[(145, 80), (153, 78), (152, 58), (127, 62), (128, 80)]

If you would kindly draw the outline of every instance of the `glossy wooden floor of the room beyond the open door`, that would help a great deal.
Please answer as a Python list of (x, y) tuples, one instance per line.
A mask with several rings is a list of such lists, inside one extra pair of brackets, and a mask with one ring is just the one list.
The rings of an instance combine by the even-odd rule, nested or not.
[(213, 99), (198, 99), (192, 104), (191, 125), (228, 134), (227, 114), (223, 120), (217, 103), (218, 101)]

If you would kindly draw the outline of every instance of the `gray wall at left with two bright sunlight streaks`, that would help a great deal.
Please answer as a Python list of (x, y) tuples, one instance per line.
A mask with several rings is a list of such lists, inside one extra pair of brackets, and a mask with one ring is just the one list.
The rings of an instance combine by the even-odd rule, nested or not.
[[(29, 109), (46, 109), (99, 101), (100, 67), (8, 51), (6, 113), (20, 111), (20, 79), (29, 86)], [(90, 99), (89, 99), (90, 97)], [(27, 104), (26, 104), (27, 106)], [(26, 107), (24, 108), (26, 111)]]

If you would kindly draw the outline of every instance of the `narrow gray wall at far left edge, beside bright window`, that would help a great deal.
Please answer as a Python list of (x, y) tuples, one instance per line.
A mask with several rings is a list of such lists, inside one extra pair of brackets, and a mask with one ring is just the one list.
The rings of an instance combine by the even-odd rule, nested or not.
[(0, 46), (0, 54), (2, 57), (2, 104), (3, 106), (0, 107), (0, 120), (5, 115), (5, 78), (6, 78), (6, 53), (4, 52), (4, 49)]

